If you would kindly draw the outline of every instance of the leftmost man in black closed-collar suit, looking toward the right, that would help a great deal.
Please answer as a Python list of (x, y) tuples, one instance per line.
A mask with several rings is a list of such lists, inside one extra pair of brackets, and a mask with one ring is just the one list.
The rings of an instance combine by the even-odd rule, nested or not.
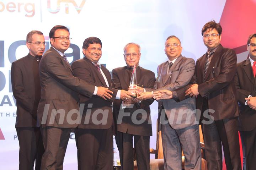
[(36, 122), (41, 94), (39, 61), (45, 49), (43, 33), (29, 32), (26, 45), (28, 55), (12, 62), (11, 67), (12, 92), (17, 105), (15, 127), (20, 144), (19, 170), (33, 170), (35, 160), (35, 169), (40, 170), (44, 147)]

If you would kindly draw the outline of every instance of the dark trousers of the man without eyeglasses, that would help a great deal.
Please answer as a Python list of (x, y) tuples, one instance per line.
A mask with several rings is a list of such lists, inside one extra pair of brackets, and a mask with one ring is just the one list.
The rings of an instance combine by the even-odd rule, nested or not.
[(76, 132), (79, 170), (113, 170), (113, 129), (82, 129)]

